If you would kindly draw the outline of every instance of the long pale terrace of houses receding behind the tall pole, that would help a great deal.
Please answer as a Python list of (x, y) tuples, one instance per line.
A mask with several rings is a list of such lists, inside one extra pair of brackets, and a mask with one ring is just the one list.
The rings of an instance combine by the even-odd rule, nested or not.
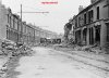
[(40, 38), (56, 37), (57, 34), (41, 29), (35, 25), (26, 24), (17, 14), (13, 14), (10, 8), (0, 2), (0, 40), (14, 42), (35, 43)]

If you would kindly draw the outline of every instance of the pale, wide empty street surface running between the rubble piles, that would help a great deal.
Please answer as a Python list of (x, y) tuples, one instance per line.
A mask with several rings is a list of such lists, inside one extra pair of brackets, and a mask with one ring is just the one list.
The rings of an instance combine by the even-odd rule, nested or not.
[(60, 51), (39, 47), (33, 50), (33, 56), (20, 60), (15, 70), (21, 74), (16, 78), (109, 78), (107, 70), (76, 61)]

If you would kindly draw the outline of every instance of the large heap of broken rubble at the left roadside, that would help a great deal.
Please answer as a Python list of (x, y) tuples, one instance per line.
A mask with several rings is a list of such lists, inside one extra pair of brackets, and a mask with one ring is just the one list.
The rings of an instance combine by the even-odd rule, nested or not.
[(8, 57), (8, 60), (5, 63), (3, 63), (2, 66), (0, 66), (0, 78), (5, 78), (4, 76), (8, 70), (7, 66), (11, 58), (15, 56), (31, 55), (31, 54), (32, 50), (26, 44), (14, 43), (12, 41), (7, 41), (7, 40), (2, 41), (0, 46), (0, 56), (5, 56)]

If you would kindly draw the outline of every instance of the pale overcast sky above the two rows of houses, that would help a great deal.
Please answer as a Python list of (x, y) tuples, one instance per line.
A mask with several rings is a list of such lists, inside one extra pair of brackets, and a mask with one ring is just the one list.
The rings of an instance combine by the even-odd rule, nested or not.
[[(44, 1), (58, 1), (58, 4), (43, 4)], [(48, 14), (23, 13), (23, 21), (59, 34), (63, 32), (64, 24), (78, 13), (78, 5), (87, 6), (90, 0), (2, 0), (2, 3), (7, 8), (10, 6), (13, 13), (20, 12), (21, 3), (23, 11), (49, 12)]]

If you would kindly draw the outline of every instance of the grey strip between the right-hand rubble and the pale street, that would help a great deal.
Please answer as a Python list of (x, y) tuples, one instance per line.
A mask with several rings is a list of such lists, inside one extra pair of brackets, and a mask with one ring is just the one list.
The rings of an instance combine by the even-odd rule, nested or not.
[(58, 48), (58, 47), (56, 47), (53, 49), (56, 49), (58, 51), (62, 51), (64, 53), (76, 54), (76, 55), (80, 55), (83, 57), (97, 60), (97, 61), (104, 61), (106, 63), (109, 63), (109, 54), (105, 54), (105, 53), (97, 54), (97, 53), (87, 52), (87, 51), (76, 51), (76, 50), (73, 50), (72, 48)]

